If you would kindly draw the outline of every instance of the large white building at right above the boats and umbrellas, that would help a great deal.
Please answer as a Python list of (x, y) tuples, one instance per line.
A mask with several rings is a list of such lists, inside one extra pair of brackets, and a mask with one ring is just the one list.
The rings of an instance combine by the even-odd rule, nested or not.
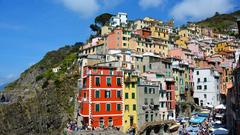
[(193, 73), (194, 101), (200, 106), (220, 103), (219, 73), (211, 68), (197, 68)]

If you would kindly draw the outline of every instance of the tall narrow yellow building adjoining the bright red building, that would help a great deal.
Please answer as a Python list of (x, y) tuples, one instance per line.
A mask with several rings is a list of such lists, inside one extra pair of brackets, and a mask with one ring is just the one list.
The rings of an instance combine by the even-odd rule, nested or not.
[(137, 131), (137, 78), (132, 70), (124, 70), (124, 111), (122, 131), (127, 133), (135, 128)]

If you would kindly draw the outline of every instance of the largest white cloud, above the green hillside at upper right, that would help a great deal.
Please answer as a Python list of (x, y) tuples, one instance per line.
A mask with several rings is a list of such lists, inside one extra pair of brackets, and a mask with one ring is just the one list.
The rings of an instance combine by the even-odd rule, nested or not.
[(183, 0), (173, 7), (170, 14), (179, 21), (200, 20), (213, 16), (215, 12), (226, 13), (233, 8), (231, 0)]

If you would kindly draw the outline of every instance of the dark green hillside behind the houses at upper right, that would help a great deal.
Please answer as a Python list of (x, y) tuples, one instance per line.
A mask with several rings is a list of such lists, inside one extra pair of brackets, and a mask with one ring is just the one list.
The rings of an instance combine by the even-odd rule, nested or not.
[(230, 29), (237, 27), (236, 16), (240, 17), (240, 10), (230, 14), (216, 13), (213, 17), (197, 22), (197, 24), (202, 27), (212, 28), (217, 33), (231, 34)]

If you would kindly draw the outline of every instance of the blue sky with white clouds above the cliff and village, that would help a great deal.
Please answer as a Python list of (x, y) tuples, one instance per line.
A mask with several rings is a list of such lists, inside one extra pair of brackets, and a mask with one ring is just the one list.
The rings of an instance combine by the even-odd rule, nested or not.
[(16, 79), (48, 51), (85, 41), (94, 17), (175, 19), (177, 25), (238, 10), (238, 0), (0, 0), (0, 85)]

